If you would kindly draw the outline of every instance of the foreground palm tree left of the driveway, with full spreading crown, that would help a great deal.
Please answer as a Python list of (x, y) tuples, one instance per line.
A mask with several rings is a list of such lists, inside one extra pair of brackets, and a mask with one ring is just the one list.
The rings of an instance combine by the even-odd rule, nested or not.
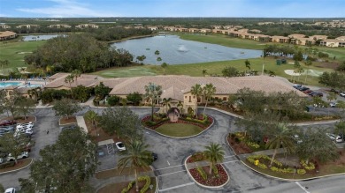
[(120, 173), (128, 166), (134, 169), (136, 191), (139, 191), (138, 169), (148, 167), (152, 161), (151, 153), (147, 150), (148, 147), (149, 145), (143, 144), (142, 141), (134, 140), (126, 147), (126, 151), (123, 152), (124, 157), (118, 162), (118, 168), (122, 167)]

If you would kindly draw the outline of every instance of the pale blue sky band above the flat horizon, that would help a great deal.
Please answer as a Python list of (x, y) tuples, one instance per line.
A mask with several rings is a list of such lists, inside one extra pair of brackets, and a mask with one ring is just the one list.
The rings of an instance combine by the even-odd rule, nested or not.
[(0, 0), (0, 17), (345, 18), (345, 0)]

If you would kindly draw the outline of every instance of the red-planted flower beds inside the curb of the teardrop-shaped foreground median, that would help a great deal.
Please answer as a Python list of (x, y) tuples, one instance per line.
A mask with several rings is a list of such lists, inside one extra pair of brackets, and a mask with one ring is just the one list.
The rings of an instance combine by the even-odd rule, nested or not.
[[(200, 158), (200, 155), (201, 154), (198, 154), (195, 158), (191, 156), (186, 162), (193, 163), (196, 160), (204, 160), (203, 158)], [(229, 178), (229, 176), (226, 174), (225, 168), (220, 164), (216, 164), (216, 166), (212, 168), (212, 174), (209, 174), (209, 166), (196, 167), (188, 170), (189, 174), (191, 174), (194, 180), (204, 186), (218, 187), (224, 185)]]

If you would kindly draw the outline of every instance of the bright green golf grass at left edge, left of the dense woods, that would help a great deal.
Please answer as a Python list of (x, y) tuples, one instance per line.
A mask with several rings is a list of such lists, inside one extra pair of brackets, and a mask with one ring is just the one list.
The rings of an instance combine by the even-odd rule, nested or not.
[(24, 56), (33, 52), (45, 42), (46, 41), (9, 41), (0, 44), (0, 60), (9, 61), (9, 65), (4, 66), (5, 74), (7, 74), (8, 71), (15, 70), (17, 67), (26, 67), (27, 64), (24, 63)]

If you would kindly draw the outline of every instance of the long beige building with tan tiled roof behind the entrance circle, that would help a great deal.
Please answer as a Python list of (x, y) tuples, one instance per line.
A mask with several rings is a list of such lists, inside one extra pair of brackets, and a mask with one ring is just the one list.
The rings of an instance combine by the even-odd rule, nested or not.
[[(212, 84), (216, 87), (216, 93), (213, 98), (219, 100), (228, 100), (229, 95), (237, 93), (239, 89), (249, 88), (255, 91), (264, 91), (265, 93), (288, 93), (295, 92), (299, 96), (306, 95), (297, 92), (290, 84), (280, 78), (268, 76), (249, 76), (236, 78), (221, 77), (188, 77), (188, 76), (155, 76), (155, 77), (135, 77), (135, 78), (100, 78), (96, 75), (82, 74), (78, 81), (74, 81), (71, 85), (65, 83), (65, 77), (68, 73), (58, 73), (51, 76), (49, 83), (45, 88), (51, 89), (71, 89), (77, 85), (86, 87), (94, 87), (103, 82), (104, 85), (111, 88), (110, 95), (116, 95), (126, 98), (129, 93), (145, 93), (145, 85), (154, 83), (162, 86), (162, 95), (160, 99), (171, 98), (173, 101), (183, 101), (183, 108), (187, 111), (189, 107), (196, 109), (196, 101), (204, 102), (203, 98), (196, 99), (196, 96), (190, 93), (191, 87), (200, 84)], [(145, 100), (143, 102), (146, 102)], [(175, 105), (176, 105), (175, 104)], [(173, 106), (174, 107), (174, 106)]]

